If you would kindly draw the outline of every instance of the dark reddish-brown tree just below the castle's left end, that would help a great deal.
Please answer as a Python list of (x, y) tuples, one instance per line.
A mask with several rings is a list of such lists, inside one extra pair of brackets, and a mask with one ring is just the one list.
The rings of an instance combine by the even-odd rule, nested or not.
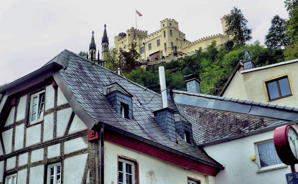
[(119, 53), (119, 61), (124, 73), (129, 73), (140, 66), (140, 54), (136, 51), (136, 44), (133, 43), (128, 50), (128, 52), (121, 50)]

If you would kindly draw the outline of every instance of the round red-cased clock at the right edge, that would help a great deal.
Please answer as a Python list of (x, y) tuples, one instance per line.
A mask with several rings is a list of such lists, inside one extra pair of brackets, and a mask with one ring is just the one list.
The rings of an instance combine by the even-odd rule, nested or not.
[(283, 163), (298, 164), (298, 134), (292, 126), (276, 128), (273, 140), (277, 155)]

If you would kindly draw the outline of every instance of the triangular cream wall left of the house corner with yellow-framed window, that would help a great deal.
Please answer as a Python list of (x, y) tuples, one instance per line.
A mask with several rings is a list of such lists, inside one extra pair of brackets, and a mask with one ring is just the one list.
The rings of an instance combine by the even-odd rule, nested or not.
[(223, 97), (245, 100), (246, 92), (244, 88), (244, 82), (242, 74), (237, 71), (231, 80), (229, 86), (223, 94)]

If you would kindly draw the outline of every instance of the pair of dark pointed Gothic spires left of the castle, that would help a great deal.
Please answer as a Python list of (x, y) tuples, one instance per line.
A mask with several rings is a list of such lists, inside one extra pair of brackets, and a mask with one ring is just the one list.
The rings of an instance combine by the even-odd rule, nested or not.
[(94, 31), (92, 31), (92, 37), (91, 37), (91, 43), (89, 44), (89, 53), (87, 55), (87, 58), (91, 61), (97, 62), (97, 64), (101, 65), (101, 66), (105, 66), (107, 63), (107, 53), (108, 53), (108, 49), (109, 49), (109, 38), (107, 35), (107, 30), (106, 30), (106, 25), (104, 26), (105, 29), (103, 31), (103, 37), (101, 39), (101, 58), (99, 58), (99, 50), (97, 53), (97, 59), (96, 59), (96, 44), (95, 44), (95, 40), (94, 40)]

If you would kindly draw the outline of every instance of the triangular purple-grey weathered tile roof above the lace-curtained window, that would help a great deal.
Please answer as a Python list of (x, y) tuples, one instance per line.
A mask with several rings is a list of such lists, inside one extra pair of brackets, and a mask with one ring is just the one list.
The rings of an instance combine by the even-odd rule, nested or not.
[(192, 124), (199, 145), (277, 126), (289, 121), (224, 110), (178, 104), (181, 114)]

